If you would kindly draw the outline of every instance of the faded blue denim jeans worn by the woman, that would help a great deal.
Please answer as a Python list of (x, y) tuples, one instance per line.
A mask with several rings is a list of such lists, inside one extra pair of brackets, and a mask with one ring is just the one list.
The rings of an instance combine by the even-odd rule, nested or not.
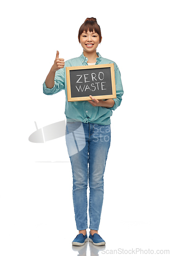
[(72, 197), (78, 230), (88, 227), (88, 182), (89, 228), (99, 230), (104, 195), (103, 176), (110, 147), (110, 135), (110, 124), (67, 122), (65, 138), (72, 167)]

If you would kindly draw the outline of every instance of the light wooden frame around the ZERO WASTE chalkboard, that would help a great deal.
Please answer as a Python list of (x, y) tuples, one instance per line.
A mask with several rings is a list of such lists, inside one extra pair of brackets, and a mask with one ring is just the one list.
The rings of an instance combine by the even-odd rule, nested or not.
[(109, 94), (109, 95), (99, 95), (99, 96), (93, 96), (93, 97), (94, 97), (95, 99), (113, 99), (113, 98), (116, 98), (114, 63), (109, 63), (109, 64), (103, 64), (103, 65), (89, 65), (89, 66), (66, 67), (67, 100), (68, 100), (68, 101), (91, 100), (91, 98), (90, 98), (89, 96), (84, 96), (84, 97), (71, 97), (70, 70), (101, 69), (101, 68), (110, 68), (110, 72), (111, 72), (112, 94)]

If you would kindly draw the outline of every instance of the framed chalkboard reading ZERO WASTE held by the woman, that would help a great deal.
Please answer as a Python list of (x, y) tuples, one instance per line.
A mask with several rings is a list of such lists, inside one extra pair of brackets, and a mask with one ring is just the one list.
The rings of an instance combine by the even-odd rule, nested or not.
[(66, 67), (68, 101), (116, 98), (114, 64)]

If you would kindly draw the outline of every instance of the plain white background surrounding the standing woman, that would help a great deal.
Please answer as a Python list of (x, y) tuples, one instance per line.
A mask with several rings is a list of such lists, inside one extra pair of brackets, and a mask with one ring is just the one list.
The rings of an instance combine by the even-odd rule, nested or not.
[[(111, 117), (99, 229), (106, 241), (103, 250), (170, 250), (168, 4), (2, 4), (2, 256), (77, 255), (80, 249), (71, 245), (78, 230), (65, 138), (39, 144), (28, 138), (36, 130), (34, 121), (41, 128), (65, 119), (64, 91), (44, 95), (42, 83), (57, 50), (65, 60), (82, 54), (78, 31), (86, 17), (96, 17), (101, 26), (98, 52), (116, 62), (124, 88), (122, 104)], [(90, 250), (91, 255), (106, 252), (88, 245), (79, 253), (90, 255)]]

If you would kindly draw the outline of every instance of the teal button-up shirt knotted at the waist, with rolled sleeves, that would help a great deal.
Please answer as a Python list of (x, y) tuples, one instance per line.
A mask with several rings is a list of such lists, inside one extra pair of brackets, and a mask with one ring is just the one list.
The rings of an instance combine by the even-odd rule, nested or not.
[(53, 88), (46, 88), (45, 82), (43, 83), (43, 93), (46, 95), (53, 95), (65, 90), (66, 102), (65, 102), (65, 115), (67, 121), (81, 121), (84, 123), (96, 123), (102, 125), (110, 124), (110, 116), (112, 116), (112, 110), (115, 110), (122, 101), (122, 95), (124, 94), (122, 81), (120, 78), (120, 72), (116, 63), (112, 60), (103, 58), (99, 53), (96, 58), (95, 65), (114, 63), (115, 84), (116, 84), (116, 98), (114, 100), (114, 106), (112, 108), (105, 108), (103, 106), (92, 106), (88, 101), (67, 101), (67, 84), (66, 84), (66, 67), (85, 66), (88, 65), (88, 59), (82, 55), (77, 58), (69, 59), (65, 61), (63, 69), (56, 71), (55, 84)]

